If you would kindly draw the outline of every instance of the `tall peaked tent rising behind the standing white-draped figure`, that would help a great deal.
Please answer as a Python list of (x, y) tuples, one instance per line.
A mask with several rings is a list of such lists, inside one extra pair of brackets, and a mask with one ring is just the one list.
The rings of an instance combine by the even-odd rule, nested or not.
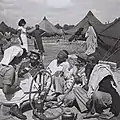
[(83, 28), (83, 33), (85, 33), (89, 27), (89, 23), (92, 24), (97, 33), (101, 32), (106, 26), (102, 24), (91, 11), (72, 29), (65, 31), (67, 34), (75, 35)]

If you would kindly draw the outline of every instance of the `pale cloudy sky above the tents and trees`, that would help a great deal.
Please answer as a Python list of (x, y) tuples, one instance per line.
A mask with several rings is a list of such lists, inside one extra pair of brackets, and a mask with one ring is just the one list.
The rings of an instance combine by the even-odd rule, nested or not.
[(103, 23), (120, 17), (120, 0), (0, 0), (0, 21), (17, 27), (21, 18), (27, 26), (44, 16), (54, 25), (76, 25), (89, 10)]

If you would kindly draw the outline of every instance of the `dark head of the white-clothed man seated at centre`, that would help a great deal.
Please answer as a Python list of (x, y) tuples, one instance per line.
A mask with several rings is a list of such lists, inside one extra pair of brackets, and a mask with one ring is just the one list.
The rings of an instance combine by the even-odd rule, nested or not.
[(68, 51), (67, 50), (61, 50), (57, 55), (57, 62), (60, 64), (62, 62), (65, 62), (68, 59)]

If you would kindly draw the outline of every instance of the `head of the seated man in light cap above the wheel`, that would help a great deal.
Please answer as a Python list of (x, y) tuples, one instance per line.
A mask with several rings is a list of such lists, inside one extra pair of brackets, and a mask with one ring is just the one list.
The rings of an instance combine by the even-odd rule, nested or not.
[(31, 63), (37, 63), (40, 60), (40, 53), (38, 50), (32, 50), (29, 58)]

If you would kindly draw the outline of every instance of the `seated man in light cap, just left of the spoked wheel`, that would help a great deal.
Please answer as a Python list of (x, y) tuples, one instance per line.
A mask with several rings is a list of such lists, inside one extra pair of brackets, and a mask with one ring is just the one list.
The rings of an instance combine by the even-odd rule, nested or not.
[(40, 52), (31, 50), (29, 59), (21, 64), (18, 72), (19, 78), (22, 79), (20, 87), (24, 93), (29, 93), (32, 77), (43, 68), (43, 63), (40, 61)]

